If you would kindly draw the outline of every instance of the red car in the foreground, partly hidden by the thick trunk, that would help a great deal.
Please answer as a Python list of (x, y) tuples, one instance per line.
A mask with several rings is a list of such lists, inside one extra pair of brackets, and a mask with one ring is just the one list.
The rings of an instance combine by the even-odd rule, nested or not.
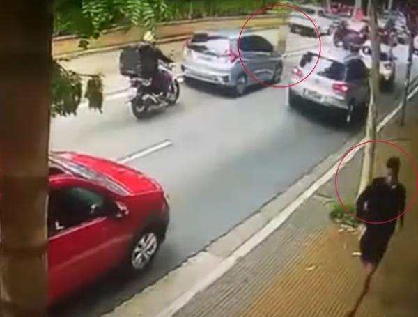
[(144, 269), (164, 241), (162, 187), (116, 162), (71, 152), (49, 156), (48, 302), (113, 268)]

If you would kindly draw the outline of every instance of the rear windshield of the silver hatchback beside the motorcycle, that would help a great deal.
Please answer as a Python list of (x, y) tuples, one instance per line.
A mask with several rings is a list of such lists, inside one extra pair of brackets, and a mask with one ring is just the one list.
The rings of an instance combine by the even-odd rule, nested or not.
[(231, 42), (223, 36), (211, 36), (207, 33), (195, 34), (189, 42), (189, 49), (196, 52), (213, 55), (226, 55), (229, 52)]

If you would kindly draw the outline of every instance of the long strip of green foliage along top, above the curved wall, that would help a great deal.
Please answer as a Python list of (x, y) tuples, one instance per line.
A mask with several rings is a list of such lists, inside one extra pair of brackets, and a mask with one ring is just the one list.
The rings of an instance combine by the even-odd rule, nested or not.
[(56, 0), (55, 35), (75, 34), (95, 38), (113, 26), (144, 24), (200, 17), (248, 15), (265, 6), (291, 3), (287, 0)]

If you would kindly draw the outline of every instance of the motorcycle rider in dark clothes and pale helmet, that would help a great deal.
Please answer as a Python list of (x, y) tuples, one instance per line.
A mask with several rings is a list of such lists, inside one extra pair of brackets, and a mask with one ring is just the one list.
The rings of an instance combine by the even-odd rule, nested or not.
[(153, 32), (147, 31), (141, 45), (138, 47), (139, 59), (141, 63), (141, 77), (144, 79), (153, 79), (153, 92), (166, 94), (169, 90), (169, 78), (158, 69), (158, 62), (173, 63), (173, 60), (165, 56), (159, 48), (155, 46), (155, 37)]

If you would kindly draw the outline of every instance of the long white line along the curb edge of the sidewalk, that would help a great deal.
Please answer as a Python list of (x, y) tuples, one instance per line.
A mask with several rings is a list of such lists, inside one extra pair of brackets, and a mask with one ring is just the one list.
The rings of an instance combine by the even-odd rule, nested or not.
[[(408, 99), (412, 98), (415, 95), (415, 93), (417, 93), (417, 91), (418, 87), (415, 88), (408, 95)], [(385, 116), (385, 118), (383, 118), (382, 121), (380, 121), (380, 123), (378, 124), (378, 132), (380, 132), (380, 130), (382, 130), (382, 128), (385, 127), (385, 125), (387, 125), (387, 123), (389, 123), (389, 121), (391, 121), (392, 118), (394, 118), (394, 116), (396, 116), (401, 107), (402, 102), (399, 102), (398, 107), (396, 107), (396, 109), (394, 109), (390, 114)], [(364, 141), (367, 141), (366, 137), (364, 137), (362, 141), (360, 141), (360, 143)], [(344, 160), (343, 164), (341, 164), (340, 169), (344, 167), (346, 164), (348, 164), (348, 162), (350, 162), (350, 160), (353, 159), (354, 155), (360, 149), (361, 146), (352, 150), (346, 156), (346, 160)], [(193, 288), (189, 289), (189, 291), (180, 295), (180, 297), (174, 300), (169, 307), (167, 307), (166, 309), (164, 309), (164, 311), (158, 314), (157, 317), (173, 316), (173, 314), (176, 314), (177, 311), (182, 309), (190, 300), (192, 300), (194, 295), (208, 288), (208, 286), (213, 284), (215, 281), (217, 281), (217, 279), (222, 277), (222, 275), (224, 275), (227, 271), (233, 268), (233, 265), (235, 265), (235, 263), (237, 263), (240, 258), (249, 254), (251, 250), (253, 250), (257, 245), (263, 242), (263, 240), (265, 240), (266, 238), (268, 238), (268, 236), (274, 233), (274, 231), (276, 231), (282, 224), (284, 224), (284, 222), (286, 222), (286, 220), (289, 217), (291, 217), (293, 212), (295, 212), (297, 208), (299, 208), (302, 205), (302, 203), (307, 201), (307, 199), (309, 199), (320, 187), (325, 185), (327, 181), (334, 177), (338, 164), (339, 162), (336, 162), (331, 167), (331, 169), (329, 169), (325, 174), (323, 174), (323, 176), (318, 178), (318, 180), (316, 180), (315, 183), (311, 185), (311, 187), (309, 187), (308, 190), (302, 192), (302, 194), (300, 194), (300, 196), (298, 196), (297, 199), (295, 199), (295, 201), (293, 201), (286, 208), (284, 208), (284, 210), (277, 217), (275, 217), (268, 224), (266, 224), (263, 227), (263, 229), (261, 229), (261, 231), (258, 231), (258, 233), (249, 238), (247, 242), (243, 243), (240, 247), (238, 247), (238, 249), (236, 249), (230, 256), (225, 258), (224, 261), (222, 261), (222, 263), (220, 263), (214, 270), (212, 270), (212, 272), (209, 275), (207, 275), (198, 283), (196, 283)]]

